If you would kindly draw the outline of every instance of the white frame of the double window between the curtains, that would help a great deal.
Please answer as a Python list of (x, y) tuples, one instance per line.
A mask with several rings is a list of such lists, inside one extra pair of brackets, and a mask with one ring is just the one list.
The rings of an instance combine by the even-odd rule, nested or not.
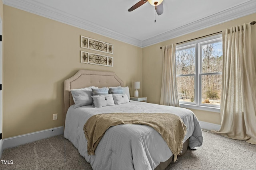
[[(216, 43), (222, 41), (222, 34), (213, 35), (210, 37), (206, 37), (203, 39), (197, 39), (194, 41), (190, 41), (188, 43), (176, 45), (176, 51), (180, 51), (182, 49), (188, 49), (188, 48), (195, 48), (195, 73), (194, 74), (184, 74), (184, 76), (192, 76), (194, 75), (194, 88), (195, 88), (195, 98), (194, 103), (192, 102), (181, 102), (180, 101), (180, 107), (185, 107), (188, 109), (198, 109), (198, 110), (204, 110), (204, 111), (212, 111), (220, 113), (220, 106), (216, 105), (209, 105), (209, 104), (202, 104), (201, 103), (201, 96), (202, 96), (202, 88), (201, 88), (201, 76), (202, 75), (220, 75), (222, 73), (216, 72), (216, 73), (202, 73), (202, 55), (201, 55), (201, 47), (202, 45), (206, 45), (208, 43)], [(178, 75), (183, 76), (183, 75)]]

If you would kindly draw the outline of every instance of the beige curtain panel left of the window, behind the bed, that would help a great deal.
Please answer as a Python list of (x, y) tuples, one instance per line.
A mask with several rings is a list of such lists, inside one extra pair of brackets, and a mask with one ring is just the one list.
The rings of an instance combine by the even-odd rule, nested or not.
[(163, 48), (164, 59), (160, 104), (180, 107), (176, 85), (176, 45), (166, 45)]

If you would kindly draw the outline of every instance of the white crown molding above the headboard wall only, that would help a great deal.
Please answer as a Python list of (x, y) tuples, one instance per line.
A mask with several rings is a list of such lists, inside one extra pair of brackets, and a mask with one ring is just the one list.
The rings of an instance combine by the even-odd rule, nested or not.
[(26, 12), (43, 16), (45, 18), (66, 23), (68, 25), (72, 25), (74, 27), (84, 29), (86, 31), (104, 35), (105, 37), (116, 39), (124, 43), (142, 47), (141, 40), (129, 37), (121, 33), (117, 33), (116, 31), (104, 28), (88, 20), (84, 20), (83, 18), (79, 18), (71, 14), (66, 14), (66, 12), (63, 12), (56, 8), (52, 8), (50, 6), (46, 6), (40, 2), (36, 2), (32, 0), (3, 0), (3, 3), (4, 5), (7, 5), (7, 6), (18, 8), (20, 10), (24, 10)]

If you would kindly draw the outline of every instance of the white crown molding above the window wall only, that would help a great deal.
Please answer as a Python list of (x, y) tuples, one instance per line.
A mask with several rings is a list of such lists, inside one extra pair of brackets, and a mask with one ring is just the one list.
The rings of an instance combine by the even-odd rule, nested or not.
[(247, 16), (255, 13), (256, 9), (256, 1), (251, 0), (249, 2), (245, 2), (241, 5), (232, 7), (228, 10), (219, 12), (212, 16), (203, 18), (201, 20), (183, 25), (182, 27), (178, 27), (176, 29), (167, 31), (160, 35), (156, 35), (149, 39), (142, 41), (142, 47), (147, 47), (156, 43), (160, 43), (169, 39), (173, 39), (176, 37), (180, 37), (182, 35), (192, 33), (195, 31), (199, 31), (201, 29), (205, 29), (207, 27), (211, 27), (214, 25), (218, 25), (220, 23), (224, 23), (227, 21), (235, 20), (237, 18), (241, 18), (243, 16)]

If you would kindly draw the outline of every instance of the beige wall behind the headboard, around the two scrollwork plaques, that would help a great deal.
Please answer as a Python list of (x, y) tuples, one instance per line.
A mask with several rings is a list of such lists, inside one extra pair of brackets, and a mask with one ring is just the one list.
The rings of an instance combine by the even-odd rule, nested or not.
[[(62, 126), (64, 80), (79, 69), (116, 72), (131, 91), (142, 81), (140, 47), (6, 5), (4, 21), (4, 138)], [(80, 35), (112, 43), (114, 67), (81, 64)]]

